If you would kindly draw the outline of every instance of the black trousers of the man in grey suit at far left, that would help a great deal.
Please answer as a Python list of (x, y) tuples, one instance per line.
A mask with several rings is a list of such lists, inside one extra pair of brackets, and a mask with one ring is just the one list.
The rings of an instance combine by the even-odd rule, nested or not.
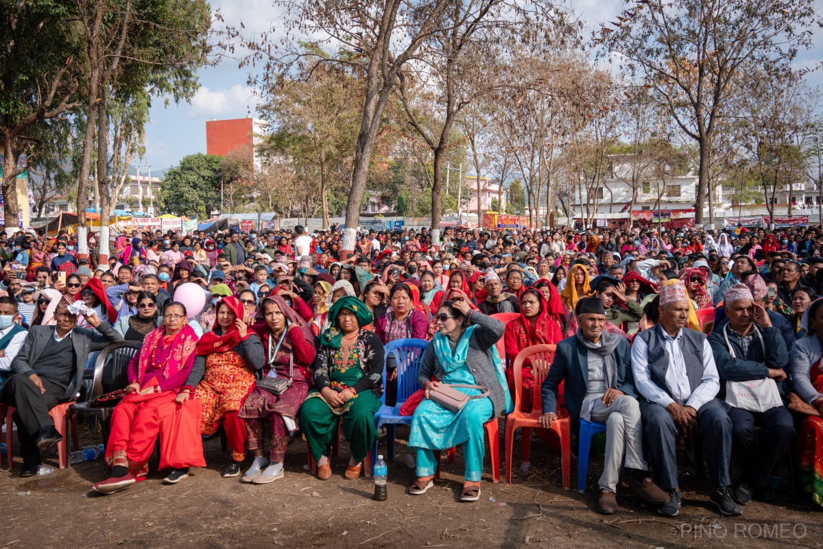
[(54, 427), (49, 410), (63, 402), (66, 390), (42, 377), (45, 393), (26, 374), (15, 374), (2, 386), (3, 404), (16, 409), (12, 418), (17, 424), (17, 439), (20, 441), (20, 455), (23, 464), (31, 467), (40, 464), (40, 451), (37, 450), (37, 434), (43, 427)]

